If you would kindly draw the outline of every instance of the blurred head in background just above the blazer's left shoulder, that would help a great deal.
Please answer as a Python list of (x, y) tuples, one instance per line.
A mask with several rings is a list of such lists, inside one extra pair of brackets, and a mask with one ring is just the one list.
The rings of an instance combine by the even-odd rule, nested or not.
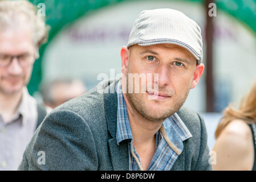
[(54, 109), (60, 104), (84, 94), (86, 85), (78, 79), (58, 79), (44, 83), (40, 92), (44, 105)]

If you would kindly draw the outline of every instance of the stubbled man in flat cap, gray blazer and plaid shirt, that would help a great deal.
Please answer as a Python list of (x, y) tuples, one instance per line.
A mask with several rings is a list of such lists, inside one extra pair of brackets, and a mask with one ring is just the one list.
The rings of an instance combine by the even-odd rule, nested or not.
[(54, 109), (19, 169), (211, 170), (204, 120), (182, 107), (201, 62), (196, 22), (177, 10), (142, 11), (121, 48), (121, 79)]

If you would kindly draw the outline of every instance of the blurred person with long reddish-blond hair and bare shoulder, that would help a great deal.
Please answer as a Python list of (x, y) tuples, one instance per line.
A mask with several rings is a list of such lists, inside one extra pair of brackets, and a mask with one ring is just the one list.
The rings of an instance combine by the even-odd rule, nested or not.
[(239, 109), (229, 106), (218, 124), (214, 170), (256, 171), (256, 82)]

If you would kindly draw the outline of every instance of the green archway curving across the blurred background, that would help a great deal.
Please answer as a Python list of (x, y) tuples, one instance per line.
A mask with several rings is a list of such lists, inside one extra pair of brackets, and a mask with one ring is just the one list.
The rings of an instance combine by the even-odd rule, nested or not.
[[(115, 5), (123, 1), (127, 0), (30, 0), (30, 2), (34, 3), (36, 6), (39, 3), (46, 5), (46, 23), (51, 27), (48, 42), (40, 48), (40, 58), (36, 60), (34, 64), (31, 80), (28, 85), (30, 94), (33, 94), (39, 88), (42, 78), (43, 53), (47, 45), (54, 39), (55, 35), (58, 34), (63, 27), (68, 26), (68, 24), (71, 24), (74, 20), (90, 11), (100, 9), (104, 6)], [(184, 1), (204, 3), (204, 0)], [(216, 0), (215, 3), (218, 9), (234, 16), (234, 18), (249, 27), (256, 35), (256, 0)]]

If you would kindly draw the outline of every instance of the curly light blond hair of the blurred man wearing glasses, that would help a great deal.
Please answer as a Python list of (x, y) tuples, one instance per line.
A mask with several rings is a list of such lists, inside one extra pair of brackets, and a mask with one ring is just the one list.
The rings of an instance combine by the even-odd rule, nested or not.
[[(38, 48), (47, 41), (49, 27), (36, 7), (26, 0), (0, 0), (0, 31), (29, 23), (33, 32), (33, 42)], [(27, 27), (27, 24), (25, 25)]]

